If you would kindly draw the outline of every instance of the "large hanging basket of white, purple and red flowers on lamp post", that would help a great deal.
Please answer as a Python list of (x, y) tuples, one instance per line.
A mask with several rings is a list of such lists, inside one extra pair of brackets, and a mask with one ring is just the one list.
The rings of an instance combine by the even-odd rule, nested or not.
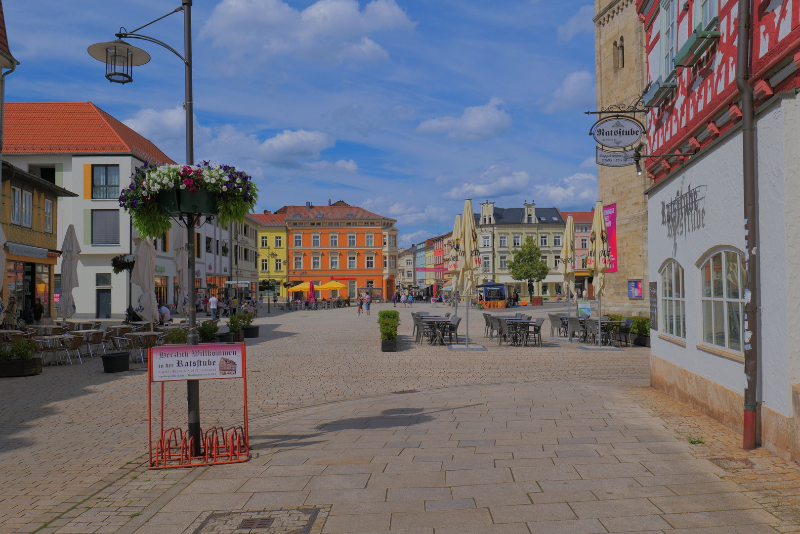
[(145, 163), (122, 190), (119, 205), (130, 213), (139, 235), (159, 238), (182, 213), (214, 216), (222, 226), (241, 223), (256, 199), (253, 179), (230, 165)]

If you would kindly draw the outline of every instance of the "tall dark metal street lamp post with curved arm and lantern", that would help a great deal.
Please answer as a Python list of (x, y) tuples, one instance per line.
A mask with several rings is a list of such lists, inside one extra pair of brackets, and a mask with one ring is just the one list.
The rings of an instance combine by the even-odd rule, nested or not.
[[(148, 22), (144, 26), (139, 26), (133, 31), (128, 31), (124, 27), (120, 28), (116, 41), (111, 42), (98, 42), (89, 47), (88, 52), (90, 56), (98, 61), (106, 63), (106, 78), (110, 82), (116, 83), (129, 83), (133, 82), (133, 67), (144, 65), (150, 61), (150, 54), (145, 50), (132, 46), (123, 41), (122, 38), (140, 39), (142, 41), (153, 42), (159, 46), (163, 46), (170, 50), (173, 54), (181, 59), (184, 66), (184, 90), (186, 93), (186, 100), (183, 102), (183, 107), (186, 110), (186, 165), (194, 165), (194, 129), (193, 118), (194, 113), (192, 109), (192, 0), (182, 0), (181, 6), (170, 11), (162, 17), (156, 18), (154, 21)], [(162, 18), (169, 17), (171, 14), (183, 11), (183, 55), (178, 53), (172, 46), (162, 42), (157, 38), (150, 37), (149, 35), (138, 34), (138, 30), (142, 30), (146, 26), (150, 26), (154, 22), (160, 21)], [(197, 223), (198, 214), (185, 213), (182, 214), (180, 219), (183, 219), (186, 224), (186, 237), (187, 245), (189, 247), (189, 291), (195, 291), (195, 272), (194, 272), (194, 258), (197, 254), (195, 251), (195, 237), (194, 227)], [(186, 338), (186, 344), (197, 345), (199, 342), (197, 334), (197, 308), (196, 299), (190, 300), (189, 303), (189, 335)], [(193, 456), (200, 456), (200, 385), (198, 380), (186, 381), (186, 397), (189, 404), (189, 437), (194, 440), (191, 454)]]

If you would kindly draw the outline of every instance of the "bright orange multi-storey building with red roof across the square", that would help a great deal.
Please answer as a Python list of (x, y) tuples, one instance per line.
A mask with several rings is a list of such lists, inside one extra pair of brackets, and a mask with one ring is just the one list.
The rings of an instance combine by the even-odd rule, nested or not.
[(336, 280), (346, 286), (341, 296), (370, 291), (373, 299), (391, 298), (397, 278), (397, 221), (342, 200), (327, 206), (285, 206), (275, 214), (286, 215), (289, 282), (316, 286)]

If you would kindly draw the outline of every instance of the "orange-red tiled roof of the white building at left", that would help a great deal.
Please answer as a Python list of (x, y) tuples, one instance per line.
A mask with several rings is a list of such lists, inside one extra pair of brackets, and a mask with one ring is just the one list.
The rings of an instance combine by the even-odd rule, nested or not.
[(7, 154), (134, 154), (152, 163), (175, 163), (92, 102), (7, 102)]

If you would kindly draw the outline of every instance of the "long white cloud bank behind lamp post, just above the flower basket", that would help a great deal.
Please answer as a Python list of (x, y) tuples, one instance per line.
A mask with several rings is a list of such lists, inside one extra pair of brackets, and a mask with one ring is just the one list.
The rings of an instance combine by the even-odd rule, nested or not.
[[(170, 110), (141, 110), (124, 121), (128, 126), (150, 139), (175, 161), (183, 162), (184, 121), (186, 115), (181, 108)], [(195, 159), (211, 159), (216, 162), (250, 167), (302, 168), (306, 171), (358, 171), (354, 160), (341, 159), (330, 162), (322, 158), (322, 152), (334, 147), (336, 139), (322, 131), (283, 130), (268, 139), (247, 134), (235, 126), (226, 124), (210, 128), (195, 120)], [(235, 163), (234, 163), (235, 162)], [(252, 170), (251, 170), (252, 172)]]

